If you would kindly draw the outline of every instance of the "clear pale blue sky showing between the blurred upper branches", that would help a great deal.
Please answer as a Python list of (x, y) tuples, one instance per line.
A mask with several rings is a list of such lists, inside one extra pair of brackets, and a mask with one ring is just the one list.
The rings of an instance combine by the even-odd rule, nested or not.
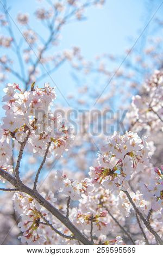
[[(55, 51), (80, 46), (83, 56), (89, 60), (93, 60), (93, 57), (97, 54), (104, 52), (125, 55), (126, 48), (133, 45), (134, 40), (139, 36), (160, 3), (160, 0), (106, 0), (103, 8), (91, 7), (88, 9), (85, 21), (65, 26), (61, 31), (61, 43), (59, 47), (55, 48)], [(32, 14), (40, 3), (34, 0), (8, 0), (8, 5), (11, 5), (10, 14), (16, 21), (18, 12)], [(159, 10), (158, 15), (161, 15), (162, 9)], [(33, 18), (31, 21), (33, 21)], [(32, 22), (30, 26), (33, 26)], [(145, 34), (149, 33), (151, 26), (152, 22)], [(37, 31), (40, 31), (39, 22), (35, 22), (34, 27)], [(15, 34), (21, 36), (14, 25), (13, 28)], [(20, 27), (20, 29), (22, 28)], [(42, 34), (46, 33), (42, 28), (40, 32)], [(137, 42), (140, 51), (144, 44), (145, 41), (140, 38)], [(65, 95), (73, 92), (76, 88), (71, 70), (70, 65), (64, 64), (52, 75), (53, 80)], [(51, 80), (45, 78), (43, 82), (51, 82)], [(59, 92), (57, 94), (59, 101), (63, 102)]]

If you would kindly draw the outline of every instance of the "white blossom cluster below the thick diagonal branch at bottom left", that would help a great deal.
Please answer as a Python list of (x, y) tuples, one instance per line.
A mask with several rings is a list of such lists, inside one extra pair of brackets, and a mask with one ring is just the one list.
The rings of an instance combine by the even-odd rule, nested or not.
[[(43, 197), (51, 202), (56, 202), (54, 194), (41, 193)], [(23, 236), (20, 236), (22, 243), (28, 242), (28, 245), (43, 244), (48, 239), (47, 234), (51, 233), (51, 229), (44, 224), (41, 224), (41, 215), (48, 218), (48, 211), (41, 206), (32, 198), (25, 193), (14, 194), (14, 209), (21, 216), (22, 220), (18, 223)]]

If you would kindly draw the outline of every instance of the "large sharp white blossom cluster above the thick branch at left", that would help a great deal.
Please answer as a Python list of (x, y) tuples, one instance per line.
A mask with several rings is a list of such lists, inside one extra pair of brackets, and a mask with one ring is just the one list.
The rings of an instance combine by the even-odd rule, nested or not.
[[(34, 86), (34, 84), (33, 84)], [(10, 170), (12, 140), (19, 149), (22, 143), (33, 154), (44, 156), (49, 145), (47, 157), (53, 153), (62, 154), (70, 144), (71, 127), (65, 124), (60, 116), (54, 117), (51, 112), (55, 91), (45, 84), (29, 92), (22, 92), (18, 84), (8, 84), (4, 89), (3, 105), (5, 117), (1, 125), (0, 166)]]

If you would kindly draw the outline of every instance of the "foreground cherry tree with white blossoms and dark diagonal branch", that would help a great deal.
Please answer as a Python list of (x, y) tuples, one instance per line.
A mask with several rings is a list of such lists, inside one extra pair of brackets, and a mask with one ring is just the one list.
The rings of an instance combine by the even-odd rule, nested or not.
[[(156, 71), (146, 88), (147, 91), (150, 88), (152, 101), (144, 104), (136, 95), (133, 108), (137, 127), (147, 130), (148, 123), (141, 119), (148, 111), (146, 118), (155, 123), (162, 121), (162, 73)], [(17, 84), (8, 84), (4, 91), (3, 101), (7, 103), (3, 106), (5, 117), (1, 126), (0, 174), (2, 182), (8, 181), (9, 187), (1, 190), (15, 192), (14, 209), (21, 216), (18, 227), (22, 231), (22, 243), (124, 244), (123, 235), (132, 244), (162, 245), (163, 167), (154, 168), (150, 163), (154, 148), (147, 136), (141, 138), (134, 131), (124, 135), (114, 132), (102, 143), (98, 165), (90, 167), (89, 177), (76, 180), (58, 170), (44, 192), (38, 183), (43, 164), (75, 138), (71, 128), (51, 113), (55, 92), (49, 84), (38, 88), (33, 83), (30, 91), (24, 93)], [(35, 112), (42, 107), (45, 114), (37, 119)], [(40, 129), (42, 123), (43, 130)], [(160, 124), (157, 127), (159, 130)], [(8, 164), (12, 160), (13, 140), (18, 150), (15, 167), (12, 162)], [(33, 187), (31, 179), (27, 185), (21, 177), (24, 150), (42, 156), (40, 167), (34, 173)], [(135, 186), (133, 181), (137, 177), (139, 184)], [(134, 218), (137, 229), (134, 225), (131, 234), (126, 222)], [(113, 234), (115, 237), (110, 237)]]

